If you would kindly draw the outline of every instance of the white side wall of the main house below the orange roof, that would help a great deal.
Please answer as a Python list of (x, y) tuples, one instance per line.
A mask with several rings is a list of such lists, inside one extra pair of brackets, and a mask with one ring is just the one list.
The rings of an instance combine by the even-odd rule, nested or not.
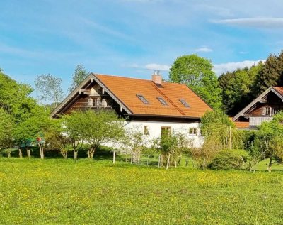
[[(157, 122), (157, 121), (126, 121), (125, 128), (138, 129), (144, 131), (144, 126), (148, 126), (149, 138), (158, 138), (161, 136), (161, 127), (170, 126), (171, 131), (187, 134), (187, 138), (192, 141), (195, 148), (200, 148), (203, 143), (203, 137), (200, 136), (200, 123), (176, 123), (176, 122)], [(189, 134), (190, 128), (197, 128), (197, 134)]]

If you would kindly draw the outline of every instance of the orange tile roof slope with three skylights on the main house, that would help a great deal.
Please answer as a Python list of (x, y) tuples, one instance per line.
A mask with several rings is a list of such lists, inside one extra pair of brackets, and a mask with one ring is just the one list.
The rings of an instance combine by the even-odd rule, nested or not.
[[(200, 118), (205, 111), (212, 110), (185, 84), (162, 82), (162, 87), (158, 87), (148, 79), (110, 75), (95, 76), (132, 111), (132, 114)], [(149, 101), (149, 104), (141, 102), (137, 94), (142, 94)], [(162, 97), (168, 105), (163, 106), (157, 97)], [(185, 99), (190, 107), (185, 107), (180, 99)]]

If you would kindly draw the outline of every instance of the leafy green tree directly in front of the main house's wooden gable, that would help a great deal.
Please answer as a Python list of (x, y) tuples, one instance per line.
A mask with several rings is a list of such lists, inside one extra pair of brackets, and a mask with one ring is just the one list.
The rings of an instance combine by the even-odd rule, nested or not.
[(62, 123), (74, 151), (81, 148), (83, 141), (89, 144), (89, 158), (93, 158), (101, 144), (115, 143), (125, 137), (123, 120), (113, 111), (74, 111), (62, 116)]

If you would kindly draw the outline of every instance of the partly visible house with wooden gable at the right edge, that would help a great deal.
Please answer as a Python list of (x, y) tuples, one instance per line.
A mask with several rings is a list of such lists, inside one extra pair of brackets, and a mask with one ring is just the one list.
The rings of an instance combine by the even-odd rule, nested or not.
[(241, 128), (254, 129), (283, 109), (283, 87), (270, 87), (233, 117)]

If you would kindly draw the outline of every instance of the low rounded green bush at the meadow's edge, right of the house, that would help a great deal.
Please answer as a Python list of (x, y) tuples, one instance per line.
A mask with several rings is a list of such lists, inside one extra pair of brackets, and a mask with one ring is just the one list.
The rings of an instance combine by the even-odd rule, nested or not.
[(241, 170), (246, 168), (249, 155), (245, 150), (221, 150), (212, 159), (212, 170)]

